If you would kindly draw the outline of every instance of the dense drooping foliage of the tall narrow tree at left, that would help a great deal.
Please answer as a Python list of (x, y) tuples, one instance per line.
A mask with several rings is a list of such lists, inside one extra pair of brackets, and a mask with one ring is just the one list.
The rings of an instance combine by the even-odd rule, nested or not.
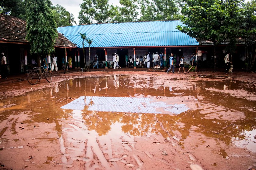
[(54, 52), (54, 42), (58, 37), (53, 19), (50, 0), (27, 0), (27, 36), (30, 53), (48, 55)]

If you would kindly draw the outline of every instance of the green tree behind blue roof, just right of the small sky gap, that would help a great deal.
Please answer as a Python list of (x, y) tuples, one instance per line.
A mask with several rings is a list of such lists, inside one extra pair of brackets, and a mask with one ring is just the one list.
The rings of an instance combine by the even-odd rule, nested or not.
[(137, 21), (137, 16), (139, 15), (138, 5), (135, 4), (137, 0), (120, 0), (119, 3), (122, 5), (119, 7), (119, 12), (121, 14), (121, 21), (119, 22), (133, 22)]

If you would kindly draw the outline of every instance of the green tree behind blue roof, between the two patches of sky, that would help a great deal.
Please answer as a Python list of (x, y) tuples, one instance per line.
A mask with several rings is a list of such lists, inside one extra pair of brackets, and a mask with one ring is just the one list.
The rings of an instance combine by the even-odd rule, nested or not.
[(79, 24), (105, 23), (109, 21), (108, 0), (83, 0), (80, 4)]

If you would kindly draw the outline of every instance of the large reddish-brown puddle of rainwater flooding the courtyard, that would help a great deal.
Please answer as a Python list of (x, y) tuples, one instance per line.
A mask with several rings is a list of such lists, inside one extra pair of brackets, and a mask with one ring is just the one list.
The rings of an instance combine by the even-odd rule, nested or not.
[[(232, 79), (159, 80), (119, 75), (69, 79), (0, 101), (0, 148), (8, 141), (18, 146), (23, 139), (17, 140), (14, 135), (26, 130), (31, 133), (43, 123), (53, 126), (55, 133), (38, 127), (36, 133), (41, 136), (31, 134), (30, 138), (58, 143), (62, 153), (58, 165), (66, 168), (82, 161), (85, 169), (147, 169), (151, 164), (144, 162), (153, 158), (175, 167), (167, 160), (163, 163), (154, 153), (161, 155), (168, 146), (186, 149), (190, 138), (191, 145), (200, 141), (193, 146), (210, 147), (193, 133), (256, 152), (255, 89), (254, 84)], [(154, 145), (153, 153), (143, 144)], [(215, 153), (230, 158), (225, 148), (219, 147)], [(187, 158), (194, 161), (187, 167), (198, 164), (193, 155)], [(42, 161), (47, 165), (56, 162), (49, 155)], [(218, 168), (219, 162), (209, 165)]]

